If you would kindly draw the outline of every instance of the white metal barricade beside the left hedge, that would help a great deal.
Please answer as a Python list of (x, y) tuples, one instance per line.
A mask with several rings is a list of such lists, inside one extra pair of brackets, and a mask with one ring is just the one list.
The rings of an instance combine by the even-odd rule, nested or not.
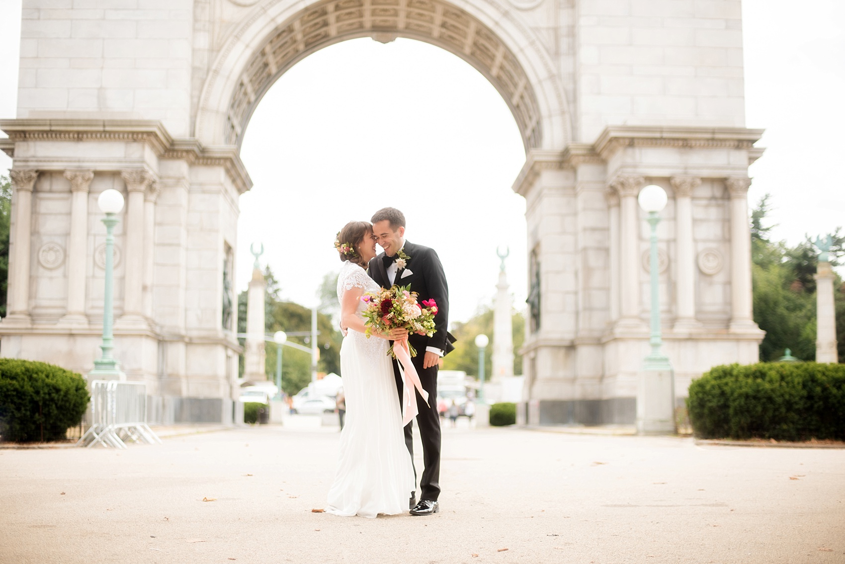
[(91, 382), (91, 426), (77, 446), (126, 448), (126, 441), (161, 444), (147, 425), (147, 386), (144, 382)]

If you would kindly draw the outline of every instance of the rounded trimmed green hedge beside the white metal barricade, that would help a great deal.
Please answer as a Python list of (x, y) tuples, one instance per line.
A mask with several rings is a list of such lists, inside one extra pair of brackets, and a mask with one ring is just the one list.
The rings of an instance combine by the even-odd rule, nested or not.
[(61, 441), (79, 425), (90, 394), (85, 379), (46, 362), (0, 358), (3, 441)]

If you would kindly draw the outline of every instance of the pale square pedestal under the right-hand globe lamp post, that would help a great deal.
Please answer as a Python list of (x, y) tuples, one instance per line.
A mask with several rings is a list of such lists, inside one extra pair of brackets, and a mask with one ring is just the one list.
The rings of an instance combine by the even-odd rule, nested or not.
[(643, 370), (638, 374), (636, 431), (640, 435), (666, 435), (676, 431), (673, 371)]

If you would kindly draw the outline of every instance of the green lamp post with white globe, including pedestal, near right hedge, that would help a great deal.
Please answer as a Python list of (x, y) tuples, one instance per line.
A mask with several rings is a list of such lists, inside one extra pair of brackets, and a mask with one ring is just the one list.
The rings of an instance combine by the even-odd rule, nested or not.
[(675, 389), (672, 365), (661, 351), (660, 329), (660, 287), (657, 261), (657, 224), (660, 212), (666, 207), (668, 198), (662, 187), (651, 184), (644, 187), (637, 197), (640, 207), (648, 214), (651, 225), (649, 247), (649, 274), (651, 274), (651, 352), (643, 363), (643, 371), (637, 386), (637, 431), (643, 433), (665, 433), (675, 431), (674, 408)]

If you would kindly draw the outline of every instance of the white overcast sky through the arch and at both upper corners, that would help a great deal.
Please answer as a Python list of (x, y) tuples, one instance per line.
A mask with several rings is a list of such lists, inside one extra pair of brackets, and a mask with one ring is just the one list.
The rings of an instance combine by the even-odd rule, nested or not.
[[(790, 243), (845, 225), (845, 3), (745, 0), (747, 127), (766, 128), (750, 203), (771, 193), (774, 236)], [(0, 117), (14, 117), (19, 0), (0, 0)], [(510, 191), (525, 154), (504, 101), (477, 71), (410, 40), (346, 41), (307, 57), (261, 101), (242, 158), (237, 287), (262, 241), (282, 295), (311, 305), (340, 266), (332, 241), (348, 220), (402, 209), (407, 237), (435, 248), (452, 320), (495, 291), (496, 247), (516, 305), (526, 295), (525, 203)], [(11, 165), (0, 155), (0, 170)]]

